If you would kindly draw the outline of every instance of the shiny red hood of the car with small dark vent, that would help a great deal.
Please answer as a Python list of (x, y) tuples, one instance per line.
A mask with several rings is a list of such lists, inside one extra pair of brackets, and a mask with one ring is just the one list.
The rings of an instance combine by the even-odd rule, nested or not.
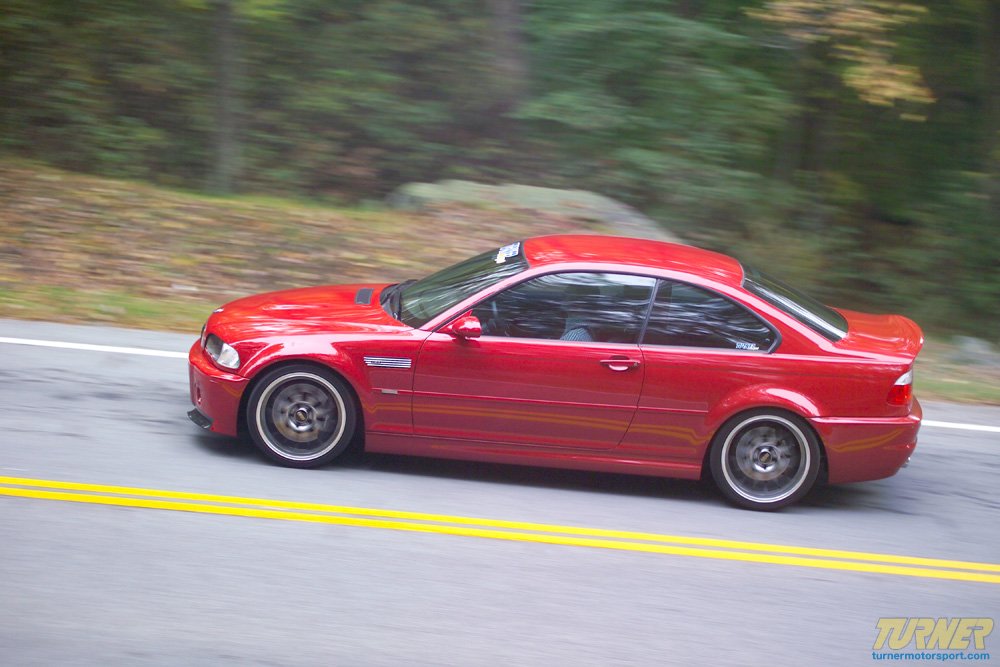
[[(256, 294), (216, 309), (209, 331), (223, 340), (272, 335), (380, 332), (404, 327), (379, 303), (385, 283), (306, 287)], [(371, 290), (366, 298), (366, 291)]]

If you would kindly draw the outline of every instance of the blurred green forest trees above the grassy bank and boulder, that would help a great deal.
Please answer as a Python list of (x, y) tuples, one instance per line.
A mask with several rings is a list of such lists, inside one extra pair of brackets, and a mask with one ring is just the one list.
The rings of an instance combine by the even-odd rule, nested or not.
[(982, 335), (991, 2), (0, 0), (0, 149), (206, 190), (224, 136), (236, 189), (344, 202), (587, 188), (835, 304)]

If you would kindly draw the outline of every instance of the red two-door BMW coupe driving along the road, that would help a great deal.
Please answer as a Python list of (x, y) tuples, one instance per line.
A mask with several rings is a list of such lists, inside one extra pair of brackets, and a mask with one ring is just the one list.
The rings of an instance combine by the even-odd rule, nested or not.
[(268, 457), (367, 451), (697, 479), (777, 509), (916, 446), (919, 327), (735, 259), (603, 236), (512, 243), (417, 281), (217, 309), (191, 418)]

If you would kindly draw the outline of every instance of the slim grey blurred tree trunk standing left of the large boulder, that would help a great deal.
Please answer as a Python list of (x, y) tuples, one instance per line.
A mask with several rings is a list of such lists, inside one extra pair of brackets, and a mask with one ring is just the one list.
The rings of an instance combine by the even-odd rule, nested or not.
[(239, 49), (232, 0), (215, 0), (215, 155), (211, 189), (232, 192), (239, 176)]

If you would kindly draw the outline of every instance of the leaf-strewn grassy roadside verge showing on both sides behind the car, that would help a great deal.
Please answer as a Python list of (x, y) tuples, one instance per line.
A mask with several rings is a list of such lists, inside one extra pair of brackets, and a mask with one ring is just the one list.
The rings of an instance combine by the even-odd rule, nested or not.
[[(423, 214), (216, 197), (0, 159), (0, 317), (197, 333), (238, 296), (426, 275), (512, 240), (602, 232), (531, 211)], [(931, 338), (920, 398), (1000, 405), (1000, 368)]]

